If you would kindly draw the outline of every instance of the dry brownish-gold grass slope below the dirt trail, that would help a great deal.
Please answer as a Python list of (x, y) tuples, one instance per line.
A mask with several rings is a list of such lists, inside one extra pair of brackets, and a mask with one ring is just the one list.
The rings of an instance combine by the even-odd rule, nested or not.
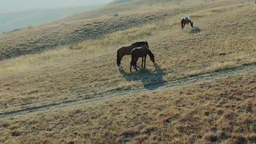
[(0, 143), (256, 143), (255, 70), (0, 119)]

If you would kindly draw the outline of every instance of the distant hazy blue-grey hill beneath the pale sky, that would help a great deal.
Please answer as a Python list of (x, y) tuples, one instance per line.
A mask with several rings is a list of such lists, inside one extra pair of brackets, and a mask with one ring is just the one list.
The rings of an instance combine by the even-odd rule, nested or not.
[(90, 5), (83, 7), (66, 7), (41, 10), (26, 10), (0, 13), (0, 33), (8, 32), (22, 27), (46, 23), (48, 21), (63, 18), (73, 14), (96, 9), (101, 5)]

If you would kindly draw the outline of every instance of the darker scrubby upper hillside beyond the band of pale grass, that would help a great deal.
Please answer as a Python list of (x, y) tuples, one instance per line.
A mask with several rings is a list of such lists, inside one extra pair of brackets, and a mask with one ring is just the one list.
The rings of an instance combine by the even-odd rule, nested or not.
[[(147, 5), (142, 1), (132, 1), (128, 2), (131, 5), (130, 7), (129, 5), (127, 6), (127, 3), (124, 3), (33, 26), (32, 28), (17, 29), (0, 35), (0, 59), (42, 52), (46, 49), (55, 49), (56, 46), (77, 43), (85, 39), (102, 38), (106, 34), (118, 30), (142, 26), (154, 21), (173, 19), (176, 16), (184, 16), (194, 11), (227, 6), (237, 2), (235, 0), (224, 2), (216, 0), (207, 3), (207, 5), (202, 6), (199, 1), (188, 1), (183, 3), (182, 7), (170, 3), (164, 6), (155, 5), (155, 8), (145, 8), (142, 6)], [(121, 11), (124, 13), (119, 13)], [(116, 12), (119, 13), (118, 17), (112, 15), (102, 16), (102, 14), (108, 15), (108, 13), (114, 14)]]

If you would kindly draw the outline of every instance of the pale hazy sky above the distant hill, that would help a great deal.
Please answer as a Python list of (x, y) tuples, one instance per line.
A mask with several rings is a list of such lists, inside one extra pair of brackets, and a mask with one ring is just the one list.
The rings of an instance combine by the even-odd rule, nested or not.
[(85, 6), (108, 3), (111, 1), (112, 0), (0, 0), (0, 11)]

